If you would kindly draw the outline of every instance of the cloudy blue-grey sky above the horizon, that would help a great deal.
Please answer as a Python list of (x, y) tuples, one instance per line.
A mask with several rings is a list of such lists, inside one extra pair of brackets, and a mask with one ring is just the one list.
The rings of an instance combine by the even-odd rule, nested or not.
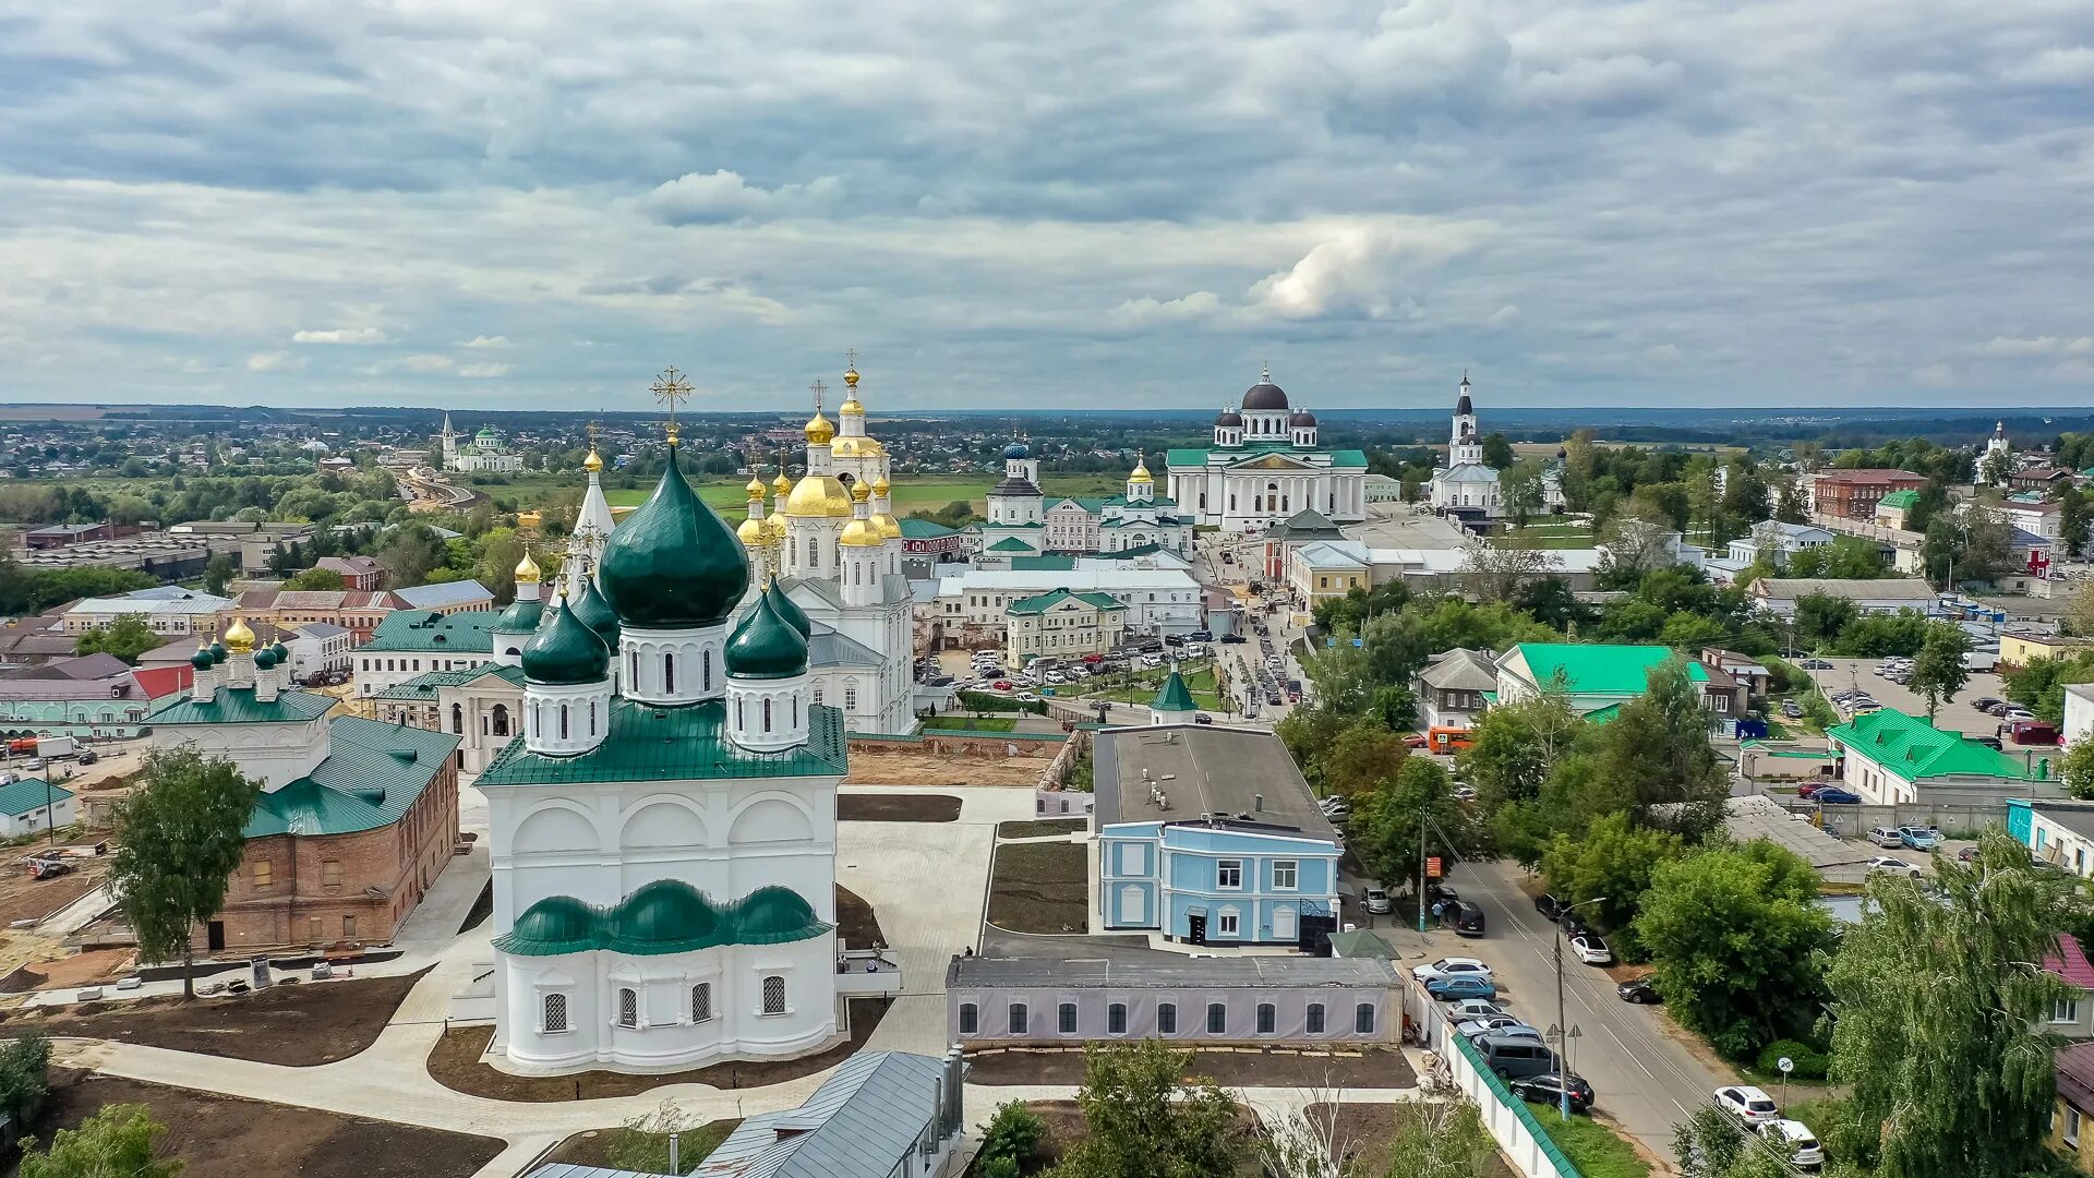
[(0, 398), (2094, 405), (2094, 4), (0, 0)]

